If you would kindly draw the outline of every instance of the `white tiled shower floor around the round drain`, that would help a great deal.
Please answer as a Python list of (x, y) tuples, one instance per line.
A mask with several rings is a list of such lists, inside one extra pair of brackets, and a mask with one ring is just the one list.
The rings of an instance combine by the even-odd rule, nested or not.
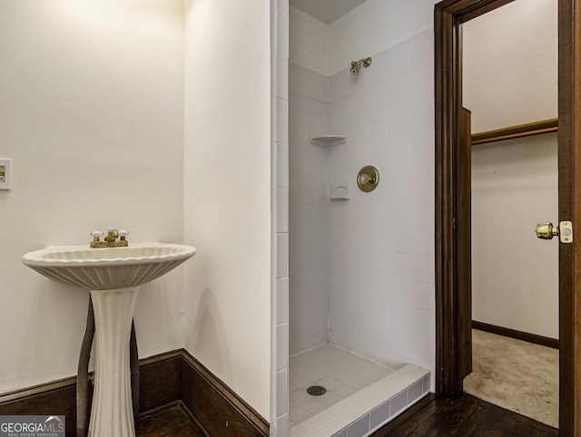
[[(289, 364), (291, 428), (392, 373), (333, 345), (292, 355)], [(307, 393), (311, 385), (321, 385), (327, 393), (311, 396)]]

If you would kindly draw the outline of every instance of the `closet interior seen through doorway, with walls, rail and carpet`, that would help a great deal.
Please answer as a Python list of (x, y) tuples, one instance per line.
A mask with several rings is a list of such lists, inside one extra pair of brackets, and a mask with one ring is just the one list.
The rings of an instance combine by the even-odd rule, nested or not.
[(532, 230), (558, 211), (556, 11), (517, 0), (461, 26), (473, 328), (464, 391), (554, 428), (558, 245)]

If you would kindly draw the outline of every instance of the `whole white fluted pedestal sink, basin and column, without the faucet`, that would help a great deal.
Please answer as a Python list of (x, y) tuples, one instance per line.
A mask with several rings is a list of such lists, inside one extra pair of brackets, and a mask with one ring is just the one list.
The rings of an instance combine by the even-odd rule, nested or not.
[(179, 266), (196, 249), (149, 243), (126, 248), (62, 246), (27, 253), (23, 263), (64, 284), (91, 292), (96, 360), (88, 435), (133, 437), (129, 342), (139, 288)]

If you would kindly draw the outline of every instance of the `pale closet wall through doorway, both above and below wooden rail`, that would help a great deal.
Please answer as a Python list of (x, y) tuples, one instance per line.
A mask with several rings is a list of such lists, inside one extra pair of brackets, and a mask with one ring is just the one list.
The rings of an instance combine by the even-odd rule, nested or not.
[[(518, 0), (464, 24), (472, 131), (557, 117), (557, 4)], [(558, 338), (556, 134), (472, 148), (473, 319)]]

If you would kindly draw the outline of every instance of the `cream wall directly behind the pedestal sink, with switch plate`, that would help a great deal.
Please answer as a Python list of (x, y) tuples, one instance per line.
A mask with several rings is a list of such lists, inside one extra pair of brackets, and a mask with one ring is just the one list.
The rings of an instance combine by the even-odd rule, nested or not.
[[(88, 245), (107, 226), (182, 241), (182, 0), (0, 2), (0, 57), (0, 157), (13, 160), (0, 191), (5, 392), (76, 374), (87, 311), (86, 291), (22, 255)], [(182, 346), (182, 268), (143, 286), (142, 356)]]

